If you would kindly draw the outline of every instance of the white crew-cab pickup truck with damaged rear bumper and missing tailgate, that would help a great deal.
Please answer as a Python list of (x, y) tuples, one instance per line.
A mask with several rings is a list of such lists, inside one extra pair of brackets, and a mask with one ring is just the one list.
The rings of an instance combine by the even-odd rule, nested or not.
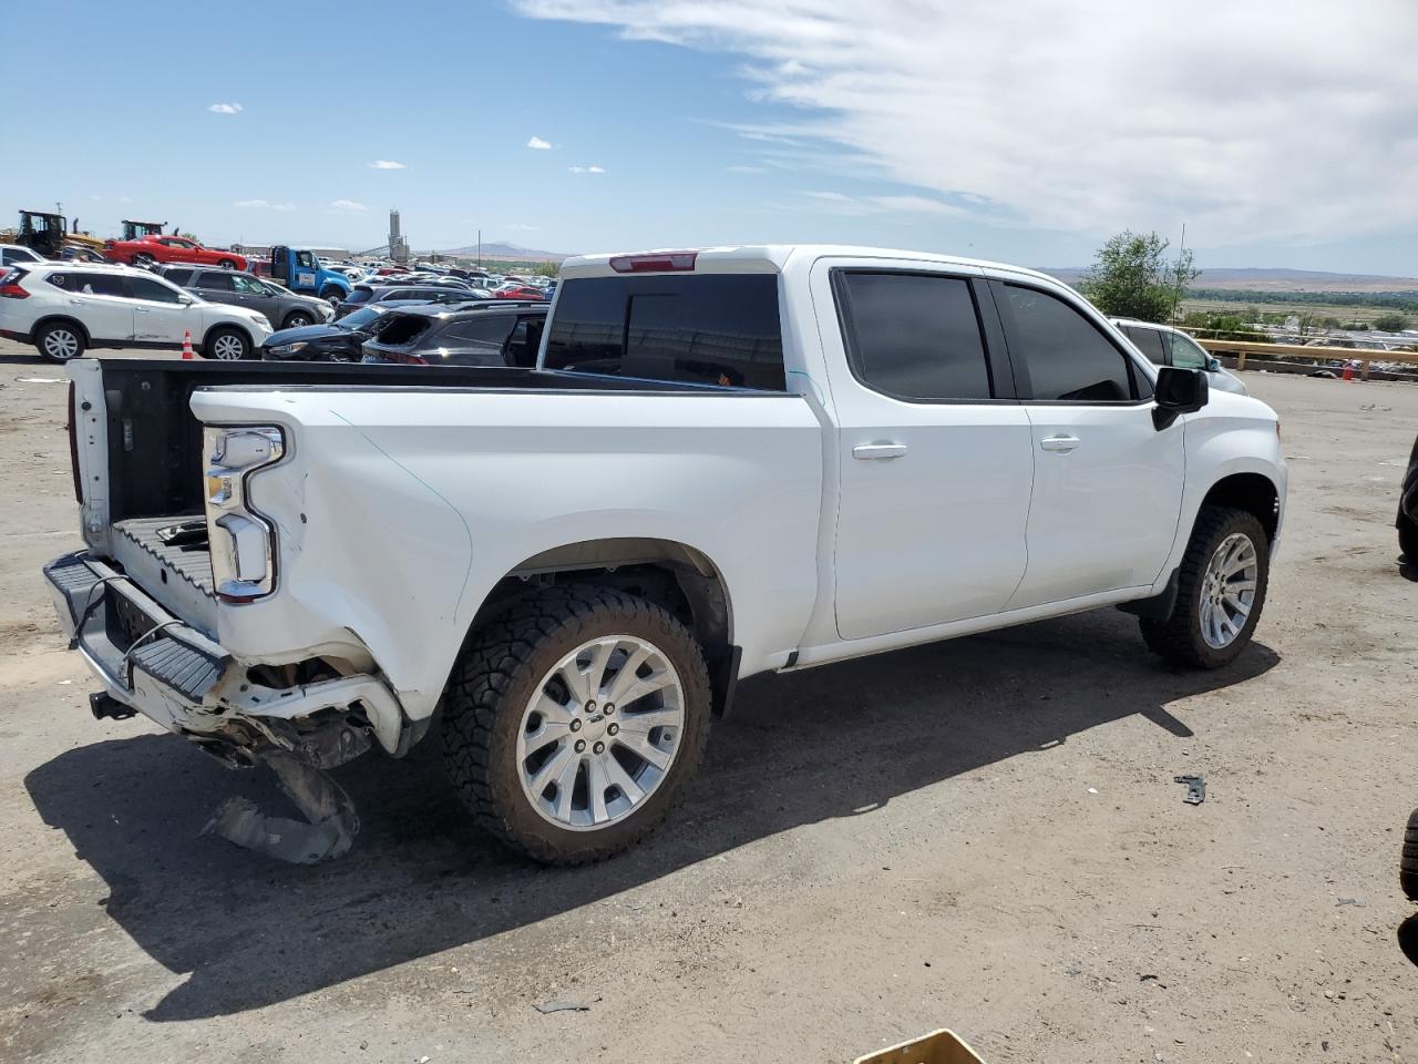
[(1279, 424), (1028, 271), (851, 247), (588, 255), (536, 369), (82, 359), (102, 681), (231, 765), (441, 733), (495, 836), (640, 838), (737, 680), (1120, 604), (1249, 643)]

